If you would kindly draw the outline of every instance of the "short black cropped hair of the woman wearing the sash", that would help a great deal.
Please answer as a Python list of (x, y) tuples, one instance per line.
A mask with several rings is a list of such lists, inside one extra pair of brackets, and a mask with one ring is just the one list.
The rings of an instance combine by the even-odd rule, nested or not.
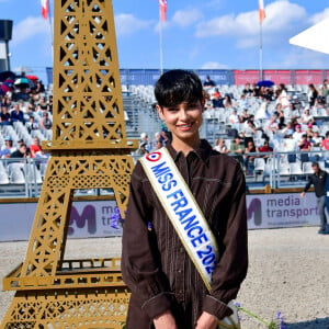
[(160, 107), (175, 106), (182, 102), (203, 101), (203, 87), (192, 71), (174, 69), (164, 72), (156, 83), (155, 97)]

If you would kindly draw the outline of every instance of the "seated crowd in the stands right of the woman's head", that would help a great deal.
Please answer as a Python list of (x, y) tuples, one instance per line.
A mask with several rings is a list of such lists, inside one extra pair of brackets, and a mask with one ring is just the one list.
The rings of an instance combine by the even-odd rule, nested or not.
[[(241, 162), (247, 174), (253, 173), (254, 159), (266, 159), (260, 152), (293, 152), (288, 162), (319, 160), (321, 154), (307, 151), (329, 150), (328, 80), (317, 89), (308, 84), (304, 92), (291, 92), (286, 86), (246, 83), (240, 94), (222, 94), (209, 77), (204, 81), (205, 118), (225, 124), (231, 138), (217, 138), (214, 149), (228, 152)], [(228, 143), (229, 145), (226, 145)], [(296, 157), (296, 151), (300, 158)], [(254, 155), (258, 154), (258, 155)]]

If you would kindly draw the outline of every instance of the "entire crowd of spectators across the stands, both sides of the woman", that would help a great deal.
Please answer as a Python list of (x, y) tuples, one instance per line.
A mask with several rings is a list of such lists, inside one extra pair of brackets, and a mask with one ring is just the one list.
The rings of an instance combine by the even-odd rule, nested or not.
[[(279, 86), (246, 83), (246, 86), (216, 86), (207, 77), (204, 81), (204, 121), (212, 121), (214, 136), (219, 126), (226, 135), (214, 139), (214, 149), (234, 156), (246, 174), (252, 174), (254, 161), (266, 161), (271, 152), (290, 152), (287, 162), (319, 160), (320, 151), (329, 150), (329, 88), (327, 79), (321, 86), (313, 83), (298, 89)], [(1, 158), (42, 158), (41, 140), (48, 139), (52, 131), (53, 97), (41, 81), (33, 86), (12, 86), (0, 94)], [(25, 129), (18, 138), (8, 127)], [(5, 135), (4, 135), (5, 134)], [(0, 136), (1, 137), (1, 136)], [(140, 134), (139, 148), (134, 156), (154, 151), (170, 140), (170, 132), (159, 127), (155, 136)], [(310, 151), (319, 150), (319, 154)], [(303, 152), (297, 156), (297, 152)], [(310, 154), (308, 154), (310, 152)], [(263, 155), (262, 155), (263, 154)]]

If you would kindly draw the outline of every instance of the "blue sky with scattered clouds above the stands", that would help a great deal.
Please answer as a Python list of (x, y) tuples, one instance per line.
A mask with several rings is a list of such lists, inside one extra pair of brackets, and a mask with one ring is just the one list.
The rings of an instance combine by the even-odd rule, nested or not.
[[(159, 68), (158, 0), (112, 2), (121, 68)], [(264, 69), (329, 68), (328, 55), (288, 44), (290, 37), (329, 16), (329, 1), (264, 0)], [(14, 23), (11, 69), (29, 67), (45, 79), (53, 50), (41, 1), (0, 0), (0, 19)], [(258, 69), (259, 31), (258, 0), (168, 0), (163, 67)]]

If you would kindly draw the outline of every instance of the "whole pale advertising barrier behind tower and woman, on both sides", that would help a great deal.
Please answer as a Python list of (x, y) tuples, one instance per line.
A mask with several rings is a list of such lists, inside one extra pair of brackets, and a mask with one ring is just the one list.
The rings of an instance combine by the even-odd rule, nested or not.
[[(112, 220), (115, 201), (75, 202), (68, 238), (122, 236)], [(318, 226), (314, 192), (304, 198), (299, 193), (247, 195), (248, 228)], [(0, 204), (0, 241), (29, 240), (36, 203)]]

